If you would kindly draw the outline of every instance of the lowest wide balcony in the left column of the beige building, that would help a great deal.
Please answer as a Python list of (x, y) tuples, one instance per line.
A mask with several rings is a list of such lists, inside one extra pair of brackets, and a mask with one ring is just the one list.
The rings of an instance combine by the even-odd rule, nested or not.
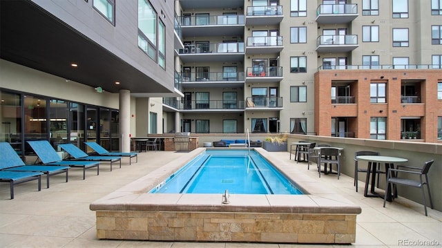
[(244, 111), (244, 101), (238, 100), (191, 100), (178, 104), (178, 109), (183, 112), (222, 112)]

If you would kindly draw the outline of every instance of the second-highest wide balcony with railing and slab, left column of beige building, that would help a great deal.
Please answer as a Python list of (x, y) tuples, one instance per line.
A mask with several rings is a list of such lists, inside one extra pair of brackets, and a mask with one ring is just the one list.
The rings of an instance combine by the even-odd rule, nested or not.
[(183, 62), (225, 62), (244, 60), (244, 43), (186, 44), (178, 50)]

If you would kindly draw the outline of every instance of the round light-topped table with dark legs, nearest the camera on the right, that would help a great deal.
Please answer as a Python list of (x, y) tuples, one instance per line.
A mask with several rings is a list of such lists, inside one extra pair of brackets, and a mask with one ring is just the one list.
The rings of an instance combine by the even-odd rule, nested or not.
[[(361, 155), (356, 156), (356, 160), (365, 160), (368, 161), (368, 167), (367, 167), (367, 178), (365, 178), (365, 188), (364, 188), (364, 196), (365, 197), (382, 197), (383, 195), (377, 193), (374, 191), (374, 184), (376, 182), (376, 163), (385, 164), (385, 175), (388, 173), (388, 168), (394, 168), (394, 163), (403, 163), (407, 162), (408, 160), (406, 158), (396, 158), (396, 157), (389, 157), (389, 156), (378, 156), (378, 155)], [(372, 164), (374, 163), (374, 166)], [(372, 180), (370, 182), (370, 193), (368, 193), (368, 183), (370, 180), (370, 176), (372, 177)], [(385, 180), (386, 182), (386, 180)], [(392, 191), (388, 185), (385, 185), (387, 188), (387, 201), (392, 201)]]

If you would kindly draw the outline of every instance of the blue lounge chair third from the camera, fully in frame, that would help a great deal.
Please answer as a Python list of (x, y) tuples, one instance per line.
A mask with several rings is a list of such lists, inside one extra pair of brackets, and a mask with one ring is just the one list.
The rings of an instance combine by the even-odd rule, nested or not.
[(86, 169), (97, 167), (97, 175), (99, 174), (99, 162), (61, 160), (57, 151), (52, 148), (47, 140), (28, 141), (28, 144), (32, 147), (43, 164), (48, 166), (57, 165), (83, 168), (83, 180), (86, 178)]

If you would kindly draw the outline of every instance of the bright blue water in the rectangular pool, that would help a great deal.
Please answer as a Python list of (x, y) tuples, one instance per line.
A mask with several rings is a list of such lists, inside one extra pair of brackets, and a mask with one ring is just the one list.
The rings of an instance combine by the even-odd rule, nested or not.
[[(250, 155), (249, 155), (250, 154)], [(302, 194), (256, 151), (206, 150), (149, 193)]]

